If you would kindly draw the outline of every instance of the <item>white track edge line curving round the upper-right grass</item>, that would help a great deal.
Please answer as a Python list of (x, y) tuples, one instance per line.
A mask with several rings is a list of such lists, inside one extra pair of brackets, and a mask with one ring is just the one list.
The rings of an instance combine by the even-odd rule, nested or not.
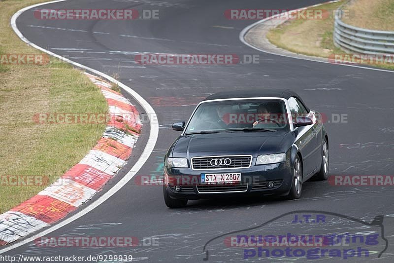
[[(322, 4), (333, 3), (333, 2), (338, 2), (338, 1), (339, 1), (339, 0), (328, 1), (328, 2), (319, 3), (319, 4), (314, 4), (314, 5), (307, 6), (307, 7), (298, 8), (298, 9), (316, 7), (316, 6), (319, 6), (319, 5), (322, 5)], [(295, 10), (298, 10), (298, 9), (290, 10), (290, 11), (288, 11), (288, 12), (292, 12), (292, 11), (295, 11)], [(248, 42), (245, 40), (244, 37), (245, 37), (246, 33), (248, 33), (249, 30), (251, 30), (253, 27), (255, 27), (255, 26), (257, 26), (257, 25), (259, 25), (259, 24), (261, 24), (261, 23), (264, 23), (264, 22), (267, 21), (267, 20), (272, 19), (272, 18), (275, 17), (275, 16), (276, 16), (276, 15), (273, 15), (273, 16), (270, 16), (270, 17), (267, 17), (267, 18), (264, 18), (263, 20), (257, 21), (257, 22), (255, 22), (255, 23), (253, 23), (253, 24), (251, 24), (251, 25), (245, 27), (245, 28), (239, 33), (239, 40), (241, 40), (242, 43), (244, 43), (245, 45), (247, 45), (247, 46), (249, 46), (249, 47), (251, 47), (251, 48), (254, 48), (254, 49), (256, 49), (256, 50), (259, 50), (259, 51), (261, 51), (261, 52), (264, 52), (264, 53), (267, 53), (267, 54), (271, 54), (271, 55), (282, 56), (282, 57), (287, 57), (287, 58), (294, 58), (294, 59), (302, 59), (302, 60), (313, 61), (313, 62), (326, 63), (326, 64), (330, 64), (330, 65), (338, 65), (338, 66), (353, 67), (353, 68), (359, 68), (359, 69), (365, 69), (365, 70), (373, 70), (373, 71), (382, 71), (382, 72), (394, 73), (394, 71), (391, 71), (391, 70), (374, 69), (374, 68), (367, 68), (367, 67), (362, 67), (362, 66), (357, 66), (357, 65), (348, 65), (348, 64), (336, 64), (336, 63), (330, 63), (330, 62), (328, 62), (328, 61), (321, 61), (321, 60), (316, 60), (316, 59), (312, 59), (312, 58), (309, 58), (309, 59), (308, 59), (308, 58), (299, 58), (299, 57), (296, 57), (296, 56), (290, 56), (290, 55), (283, 55), (283, 54), (273, 53), (273, 52), (266, 51), (266, 50), (263, 50), (263, 49), (261, 49), (261, 48), (258, 48), (258, 47), (256, 47), (256, 46), (254, 46), (254, 45), (248, 43)], [(286, 51), (288, 51), (288, 50), (286, 50)], [(289, 52), (291, 52), (291, 51), (289, 51)], [(295, 53), (295, 54), (296, 54), (296, 53)], [(303, 55), (303, 56), (307, 56), (307, 55)]]

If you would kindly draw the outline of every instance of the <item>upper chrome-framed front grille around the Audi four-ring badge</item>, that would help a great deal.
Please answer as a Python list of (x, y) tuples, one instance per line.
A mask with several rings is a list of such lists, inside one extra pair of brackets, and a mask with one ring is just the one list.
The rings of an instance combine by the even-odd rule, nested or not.
[[(212, 159), (230, 159), (230, 165), (211, 165)], [(228, 161), (228, 160), (227, 160)], [(249, 168), (252, 164), (251, 155), (230, 155), (230, 156), (209, 156), (209, 157), (193, 157), (193, 170), (207, 170), (207, 169), (233, 169), (233, 168)]]

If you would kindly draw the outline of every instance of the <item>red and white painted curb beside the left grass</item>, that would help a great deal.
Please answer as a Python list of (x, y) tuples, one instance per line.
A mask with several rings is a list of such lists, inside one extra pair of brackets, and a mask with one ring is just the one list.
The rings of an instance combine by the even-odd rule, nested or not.
[(101, 89), (109, 122), (97, 145), (61, 178), (29, 200), (0, 215), (0, 246), (66, 217), (91, 199), (126, 164), (141, 132), (139, 114), (110, 84), (85, 73)]

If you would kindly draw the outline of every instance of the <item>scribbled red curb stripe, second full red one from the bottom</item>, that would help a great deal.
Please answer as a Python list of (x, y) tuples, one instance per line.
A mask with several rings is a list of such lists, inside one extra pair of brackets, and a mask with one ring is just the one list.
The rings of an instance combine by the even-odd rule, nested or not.
[(87, 164), (76, 164), (62, 178), (99, 191), (112, 176)]

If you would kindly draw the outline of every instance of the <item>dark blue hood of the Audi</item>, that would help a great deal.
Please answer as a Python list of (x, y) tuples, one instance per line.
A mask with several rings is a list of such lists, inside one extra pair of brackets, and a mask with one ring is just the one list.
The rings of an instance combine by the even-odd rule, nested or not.
[[(286, 152), (281, 144), (286, 132), (234, 132), (180, 136), (167, 156), (186, 157)], [(283, 148), (283, 149), (282, 149)]]

